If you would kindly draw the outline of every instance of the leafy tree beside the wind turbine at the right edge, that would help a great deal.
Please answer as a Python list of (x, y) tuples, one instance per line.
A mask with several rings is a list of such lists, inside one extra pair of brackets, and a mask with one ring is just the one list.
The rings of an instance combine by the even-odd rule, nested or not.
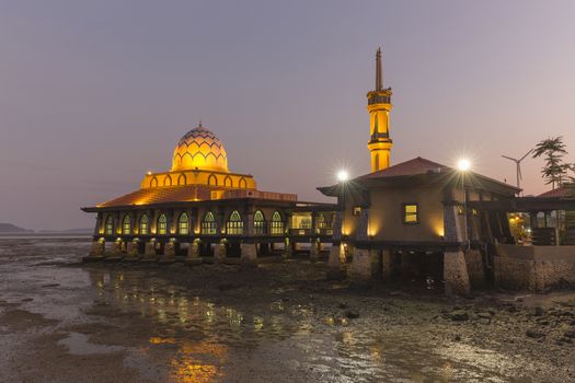
[(548, 138), (540, 141), (533, 150), (532, 158), (544, 156), (545, 164), (541, 169), (541, 176), (545, 178), (545, 185), (551, 184), (554, 189), (555, 184), (561, 187), (563, 181), (567, 177), (567, 172), (573, 170), (573, 165), (563, 162), (567, 154), (563, 137)]

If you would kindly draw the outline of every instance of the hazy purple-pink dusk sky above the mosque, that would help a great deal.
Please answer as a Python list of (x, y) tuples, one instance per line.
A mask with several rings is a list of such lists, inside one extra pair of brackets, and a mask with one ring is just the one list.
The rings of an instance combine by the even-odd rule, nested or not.
[[(166, 171), (202, 119), (231, 171), (324, 201), (369, 172), (375, 53), (393, 89), (392, 163), (515, 184), (538, 141), (575, 162), (573, 1), (0, 0), (0, 222), (89, 228), (81, 207)], [(525, 194), (549, 187), (522, 163)]]

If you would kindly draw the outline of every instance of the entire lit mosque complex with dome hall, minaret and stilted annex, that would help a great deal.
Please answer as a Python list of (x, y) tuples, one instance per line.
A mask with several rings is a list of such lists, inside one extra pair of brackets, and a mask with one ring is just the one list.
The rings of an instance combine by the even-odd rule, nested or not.
[(318, 188), (336, 204), (258, 190), (252, 175), (228, 170), (223, 143), (200, 123), (177, 142), (170, 171), (149, 172), (139, 189), (82, 209), (96, 213), (84, 259), (253, 264), (304, 251), (312, 260), (327, 257), (330, 278), (433, 276), (448, 293), (494, 281), (575, 282), (575, 263), (516, 256), (525, 251), (515, 246), (507, 216), (575, 210), (573, 201), (519, 198), (519, 188), (465, 163), (451, 167), (417, 156), (392, 164), (392, 90), (383, 86), (381, 67), (378, 49), (375, 89), (367, 93), (371, 172)]

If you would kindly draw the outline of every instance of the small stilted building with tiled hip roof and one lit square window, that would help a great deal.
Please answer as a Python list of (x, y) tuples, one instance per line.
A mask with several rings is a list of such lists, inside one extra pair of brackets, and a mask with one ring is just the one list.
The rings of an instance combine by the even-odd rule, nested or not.
[(504, 213), (469, 204), (507, 200), (519, 189), (423, 158), (319, 189), (337, 197), (341, 230), (333, 240), (354, 253), (357, 279), (432, 277), (465, 293), (485, 282), (493, 265), (485, 244), (513, 241)]

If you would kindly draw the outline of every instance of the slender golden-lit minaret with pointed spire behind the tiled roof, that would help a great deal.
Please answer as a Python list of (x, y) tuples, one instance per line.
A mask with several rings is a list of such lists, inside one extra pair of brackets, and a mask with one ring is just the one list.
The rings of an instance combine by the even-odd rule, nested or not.
[(381, 71), (381, 48), (376, 53), (376, 90), (367, 94), (370, 140), (367, 148), (371, 153), (371, 172), (390, 165), (393, 141), (389, 138), (389, 113), (391, 112), (391, 88), (383, 89)]

